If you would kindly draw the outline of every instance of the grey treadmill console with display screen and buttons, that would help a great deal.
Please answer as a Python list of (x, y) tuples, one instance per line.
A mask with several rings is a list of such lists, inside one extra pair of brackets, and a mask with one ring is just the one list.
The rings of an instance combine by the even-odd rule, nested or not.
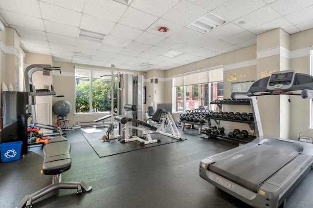
[(293, 84), (295, 71), (277, 71), (270, 75), (267, 88), (269, 90), (289, 89)]

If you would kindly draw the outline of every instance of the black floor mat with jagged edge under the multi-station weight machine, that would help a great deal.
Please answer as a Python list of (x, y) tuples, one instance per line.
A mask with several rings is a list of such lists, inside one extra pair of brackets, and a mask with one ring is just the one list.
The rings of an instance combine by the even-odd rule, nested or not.
[(96, 154), (99, 157), (107, 157), (111, 155), (135, 151), (135, 150), (144, 149), (148, 147), (160, 146), (160, 145), (170, 144), (174, 142), (179, 142), (179, 140), (174, 139), (172, 137), (167, 137), (161, 134), (151, 134), (152, 139), (158, 139), (161, 142), (139, 146), (139, 142), (137, 141), (121, 144), (117, 139), (112, 139), (110, 140), (110, 142), (103, 142), (102, 141), (103, 135), (106, 135), (106, 131), (83, 134), (83, 136), (85, 137), (89, 145), (93, 148), (93, 150), (96, 152)]

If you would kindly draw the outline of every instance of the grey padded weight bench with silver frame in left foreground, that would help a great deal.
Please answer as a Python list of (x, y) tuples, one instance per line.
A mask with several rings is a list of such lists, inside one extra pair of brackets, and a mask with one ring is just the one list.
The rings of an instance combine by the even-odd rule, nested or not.
[(52, 184), (41, 190), (26, 195), (16, 208), (31, 208), (32, 202), (57, 189), (77, 189), (77, 193), (87, 192), (92, 189), (84, 182), (61, 182), (61, 173), (69, 170), (71, 166), (70, 143), (65, 137), (52, 138), (44, 146), (44, 164), (42, 173), (52, 175)]

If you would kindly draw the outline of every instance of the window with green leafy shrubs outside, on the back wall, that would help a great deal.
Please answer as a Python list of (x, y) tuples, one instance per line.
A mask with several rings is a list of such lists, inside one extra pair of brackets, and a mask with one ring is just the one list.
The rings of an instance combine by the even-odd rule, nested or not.
[[(114, 88), (116, 98), (117, 88)], [(75, 112), (94, 113), (111, 110), (111, 72), (75, 67)], [(114, 108), (117, 106), (114, 99)]]

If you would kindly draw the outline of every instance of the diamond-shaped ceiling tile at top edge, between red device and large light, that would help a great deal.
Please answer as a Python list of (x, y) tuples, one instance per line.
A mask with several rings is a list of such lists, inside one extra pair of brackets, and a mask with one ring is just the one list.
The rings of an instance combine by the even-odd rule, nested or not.
[(162, 16), (163, 19), (186, 26), (208, 13), (206, 9), (188, 0), (180, 0), (172, 9)]

